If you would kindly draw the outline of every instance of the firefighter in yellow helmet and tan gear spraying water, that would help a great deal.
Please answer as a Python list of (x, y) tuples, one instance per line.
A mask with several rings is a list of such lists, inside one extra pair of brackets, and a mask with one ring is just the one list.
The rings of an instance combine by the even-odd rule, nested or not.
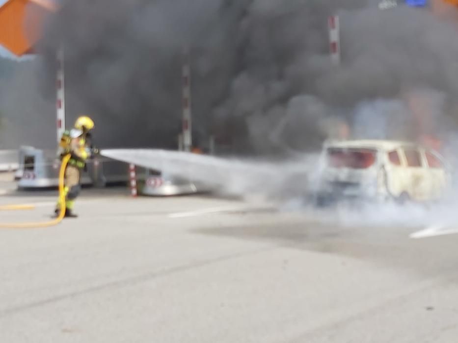
[[(78, 217), (73, 212), (75, 199), (80, 195), (81, 171), (85, 169), (86, 160), (92, 153), (97, 153), (97, 149), (89, 148), (86, 139), (89, 138), (89, 131), (94, 128), (94, 122), (87, 116), (79, 117), (75, 122), (75, 127), (64, 133), (61, 140), (61, 158), (71, 154), (64, 176), (64, 195), (65, 195), (65, 217)], [(60, 197), (55, 208), (55, 216), (60, 213)]]

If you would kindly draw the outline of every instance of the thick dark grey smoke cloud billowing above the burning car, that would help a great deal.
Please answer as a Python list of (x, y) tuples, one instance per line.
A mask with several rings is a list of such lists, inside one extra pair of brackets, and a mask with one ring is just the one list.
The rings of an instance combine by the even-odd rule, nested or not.
[[(335, 13), (340, 66), (328, 53)], [(241, 149), (268, 152), (318, 147), (332, 118), (353, 124), (372, 101), (364, 123), (391, 116), (408, 128), (403, 97), (411, 90), (453, 103), (456, 36), (427, 10), (381, 11), (369, 0), (67, 0), (40, 51), (51, 76), (63, 42), (69, 116), (93, 115), (103, 145), (173, 147), (187, 47), (200, 139), (216, 130)], [(51, 95), (54, 78), (46, 82)]]

